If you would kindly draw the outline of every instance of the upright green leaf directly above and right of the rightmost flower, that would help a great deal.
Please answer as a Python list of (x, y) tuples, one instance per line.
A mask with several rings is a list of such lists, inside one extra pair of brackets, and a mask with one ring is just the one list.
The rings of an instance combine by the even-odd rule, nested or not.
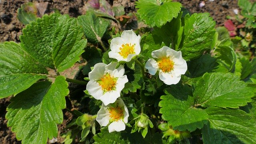
[(180, 47), (185, 60), (197, 58), (209, 50), (215, 34), (215, 21), (209, 16), (209, 13), (185, 16), (184, 41)]

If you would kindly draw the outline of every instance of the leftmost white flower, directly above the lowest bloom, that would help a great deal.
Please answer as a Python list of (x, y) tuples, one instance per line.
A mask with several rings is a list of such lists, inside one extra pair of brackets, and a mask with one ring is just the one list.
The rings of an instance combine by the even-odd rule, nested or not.
[(115, 69), (117, 62), (110, 64), (98, 63), (94, 69), (89, 72), (90, 81), (86, 85), (86, 90), (95, 99), (101, 100), (105, 105), (113, 103), (128, 82), (127, 76), (124, 75), (124, 66)]

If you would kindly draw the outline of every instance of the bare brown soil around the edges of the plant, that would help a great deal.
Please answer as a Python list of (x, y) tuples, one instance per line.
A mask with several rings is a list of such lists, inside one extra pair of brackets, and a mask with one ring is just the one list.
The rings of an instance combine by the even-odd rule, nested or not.
[[(38, 2), (48, 2), (46, 13), (51, 12), (54, 8), (60, 11), (61, 14), (69, 14), (72, 17), (77, 17), (85, 13), (84, 4), (86, 0), (37, 0)], [(110, 4), (123, 5), (125, 7), (126, 14), (128, 12), (135, 11), (136, 0), (108, 0)], [(214, 0), (210, 2), (205, 1), (205, 6), (200, 8), (200, 0), (173, 0), (181, 2), (182, 5), (194, 12), (209, 12), (211, 16), (216, 20), (217, 26), (223, 26), (226, 16), (234, 15), (233, 10), (238, 8), (237, 0)], [(17, 9), (24, 2), (32, 2), (32, 0), (0, 0), (0, 42), (15, 41), (20, 42), (19, 36), (22, 34), (21, 24), (17, 19)], [(1, 144), (20, 144), (20, 141), (16, 140), (15, 134), (11, 132), (11, 128), (6, 126), (6, 107), (8, 106), (10, 98), (0, 99), (0, 142)], [(68, 105), (68, 104), (67, 104)], [(74, 106), (70, 106), (71, 108)], [(72, 115), (64, 111), (64, 122), (59, 125), (59, 132), (57, 143), (60, 143), (60, 133), (63, 132), (67, 122), (71, 120)]]

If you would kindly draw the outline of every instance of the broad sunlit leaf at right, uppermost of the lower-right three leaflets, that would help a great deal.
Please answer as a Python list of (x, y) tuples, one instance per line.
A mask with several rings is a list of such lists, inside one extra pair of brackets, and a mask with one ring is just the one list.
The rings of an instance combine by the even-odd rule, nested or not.
[(196, 104), (203, 107), (239, 108), (252, 102), (254, 96), (254, 88), (231, 73), (206, 73), (194, 87)]

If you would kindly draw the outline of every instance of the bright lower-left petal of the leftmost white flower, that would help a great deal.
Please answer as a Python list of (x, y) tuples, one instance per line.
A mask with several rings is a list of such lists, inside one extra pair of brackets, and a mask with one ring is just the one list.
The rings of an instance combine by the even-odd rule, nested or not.
[(90, 80), (86, 85), (86, 90), (88, 90), (89, 94), (92, 95), (96, 100), (99, 100), (103, 95), (102, 87), (98, 82)]

